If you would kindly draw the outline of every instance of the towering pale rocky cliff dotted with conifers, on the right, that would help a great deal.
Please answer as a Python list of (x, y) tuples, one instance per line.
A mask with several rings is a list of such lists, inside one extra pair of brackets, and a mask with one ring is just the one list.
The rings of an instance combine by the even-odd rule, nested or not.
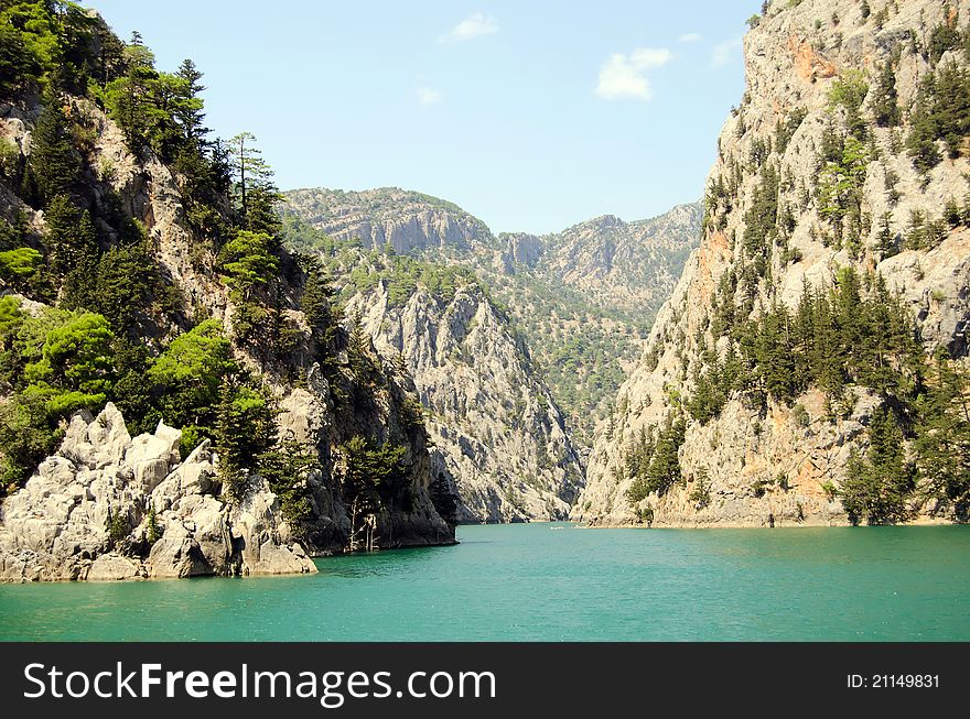
[[(747, 91), (716, 144), (701, 247), (599, 427), (578, 520), (844, 523), (850, 488), (869, 482), (883, 501), (913, 461), (914, 397), (933, 388), (913, 389), (918, 372), (891, 359), (895, 308), (926, 356), (966, 351), (970, 164), (966, 128), (942, 128), (967, 91), (970, 3), (766, 7), (744, 40)], [(836, 320), (813, 314), (830, 305)], [(864, 313), (883, 317), (874, 330)], [(865, 355), (871, 342), (886, 352)], [(802, 367), (818, 379), (793, 379)], [(866, 379), (872, 367), (893, 379)], [(886, 416), (905, 442), (876, 445), (873, 433), (893, 436)], [(953, 518), (907, 477), (898, 515)]]

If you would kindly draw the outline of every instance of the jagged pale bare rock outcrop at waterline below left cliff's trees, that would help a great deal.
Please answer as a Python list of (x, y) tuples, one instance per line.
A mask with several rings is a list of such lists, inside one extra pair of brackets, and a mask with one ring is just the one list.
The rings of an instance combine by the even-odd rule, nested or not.
[(0, 505), (0, 579), (316, 571), (263, 480), (231, 501), (208, 442), (181, 460), (180, 438), (161, 423), (130, 437), (110, 403), (75, 414), (57, 453)]

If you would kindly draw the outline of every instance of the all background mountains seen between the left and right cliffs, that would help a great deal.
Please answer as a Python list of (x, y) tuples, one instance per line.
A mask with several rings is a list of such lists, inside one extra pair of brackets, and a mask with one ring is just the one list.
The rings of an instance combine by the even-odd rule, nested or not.
[(700, 206), (540, 238), (495, 237), (396, 188), (287, 200), (290, 244), (323, 259), (347, 316), (414, 375), (460, 519), (564, 519), (595, 416), (696, 243)]

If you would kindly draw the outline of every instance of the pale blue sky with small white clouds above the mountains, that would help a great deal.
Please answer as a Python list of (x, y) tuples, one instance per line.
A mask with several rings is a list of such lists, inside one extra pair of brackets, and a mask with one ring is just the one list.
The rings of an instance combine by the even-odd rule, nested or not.
[(283, 189), (399, 186), (493, 230), (551, 232), (700, 198), (744, 90), (752, 0), (94, 0), (158, 67), (205, 73)]

